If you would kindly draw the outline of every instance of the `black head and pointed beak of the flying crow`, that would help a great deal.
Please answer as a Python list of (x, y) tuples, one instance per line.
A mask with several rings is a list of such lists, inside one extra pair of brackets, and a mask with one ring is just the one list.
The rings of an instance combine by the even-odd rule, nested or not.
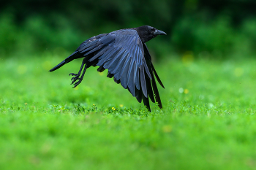
[(166, 35), (164, 31), (151, 26), (140, 26), (135, 28), (135, 30), (138, 32), (143, 43), (148, 42), (150, 39), (153, 39), (158, 35)]

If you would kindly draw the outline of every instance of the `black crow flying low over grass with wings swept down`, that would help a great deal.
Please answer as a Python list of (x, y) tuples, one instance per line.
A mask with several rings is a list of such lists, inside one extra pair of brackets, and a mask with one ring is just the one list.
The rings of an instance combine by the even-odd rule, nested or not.
[[(166, 34), (151, 26), (140, 26), (93, 36), (83, 42), (72, 55), (50, 69), (50, 72), (59, 69), (65, 63), (74, 59), (83, 58), (78, 74), (69, 74), (74, 76), (71, 79), (71, 84), (75, 85), (73, 88), (82, 82), (86, 69), (90, 66), (99, 66), (98, 72), (108, 69), (107, 77), (113, 77), (116, 83), (121, 83), (125, 89), (132, 93), (132, 96), (136, 96), (140, 103), (143, 100), (149, 111), (151, 109), (148, 96), (153, 103), (157, 101), (159, 108), (162, 109), (162, 102), (154, 76), (162, 88), (165, 87), (154, 69), (151, 55), (145, 44), (145, 42), (158, 35)], [(83, 74), (80, 75), (82, 70)]]

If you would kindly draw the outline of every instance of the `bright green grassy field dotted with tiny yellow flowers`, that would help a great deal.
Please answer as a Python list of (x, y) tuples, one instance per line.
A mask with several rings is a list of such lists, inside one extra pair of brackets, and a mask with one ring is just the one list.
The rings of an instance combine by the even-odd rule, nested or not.
[(0, 169), (255, 169), (256, 61), (157, 63), (152, 112), (96, 68), (72, 88), (74, 61), (0, 62)]

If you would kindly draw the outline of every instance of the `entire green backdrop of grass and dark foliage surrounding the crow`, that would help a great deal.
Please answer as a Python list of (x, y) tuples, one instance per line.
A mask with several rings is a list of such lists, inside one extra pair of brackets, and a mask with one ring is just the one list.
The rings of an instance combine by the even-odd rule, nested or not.
[[(255, 169), (256, 1), (0, 1), (0, 169)], [(147, 42), (163, 109), (152, 112), (81, 59), (121, 28)]]

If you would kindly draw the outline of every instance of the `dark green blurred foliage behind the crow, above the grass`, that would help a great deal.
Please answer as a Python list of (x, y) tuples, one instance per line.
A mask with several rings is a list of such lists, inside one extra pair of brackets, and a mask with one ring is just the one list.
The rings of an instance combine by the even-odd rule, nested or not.
[(91, 36), (143, 25), (167, 33), (148, 42), (157, 59), (251, 58), (255, 9), (255, 0), (1, 1), (0, 58), (72, 53)]

